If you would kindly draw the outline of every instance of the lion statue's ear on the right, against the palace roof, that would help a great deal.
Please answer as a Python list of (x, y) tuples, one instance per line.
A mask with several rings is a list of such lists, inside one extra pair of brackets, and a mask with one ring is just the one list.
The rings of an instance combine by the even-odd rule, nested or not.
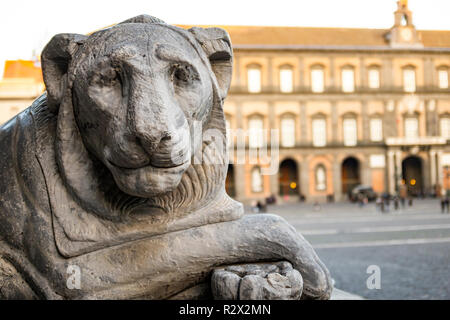
[(225, 98), (230, 88), (233, 71), (233, 49), (230, 36), (221, 28), (194, 27), (189, 31), (208, 56), (219, 84), (220, 95), (222, 99)]

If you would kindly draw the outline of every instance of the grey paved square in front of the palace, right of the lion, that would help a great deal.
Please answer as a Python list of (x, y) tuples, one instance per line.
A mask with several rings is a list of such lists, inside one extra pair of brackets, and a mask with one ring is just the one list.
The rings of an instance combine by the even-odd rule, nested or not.
[[(246, 208), (247, 211), (249, 208)], [(310, 241), (339, 289), (368, 299), (450, 299), (450, 214), (437, 199), (382, 214), (374, 204), (269, 206)], [(381, 288), (368, 289), (378, 266)]]

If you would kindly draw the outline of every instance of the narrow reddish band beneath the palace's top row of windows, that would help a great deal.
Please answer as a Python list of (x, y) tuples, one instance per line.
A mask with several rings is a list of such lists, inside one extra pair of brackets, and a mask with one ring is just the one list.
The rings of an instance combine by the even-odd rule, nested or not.
[(306, 86), (298, 86), (293, 88), (291, 92), (281, 92), (280, 87), (277, 86), (263, 86), (261, 87), (261, 91), (259, 92), (249, 92), (247, 86), (232, 86), (230, 88), (231, 94), (250, 94), (250, 95), (258, 95), (258, 94), (313, 94), (313, 95), (321, 95), (321, 94), (343, 94), (343, 95), (351, 95), (351, 94), (386, 94), (386, 93), (426, 93), (426, 94), (450, 94), (450, 88), (441, 89), (437, 86), (420, 86), (416, 87), (415, 92), (406, 92), (402, 86), (382, 86), (380, 88), (369, 88), (358, 86), (355, 87), (355, 90), (352, 92), (344, 92), (342, 91), (342, 87), (338, 86), (329, 86), (324, 88), (323, 92), (312, 92), (311, 87)]

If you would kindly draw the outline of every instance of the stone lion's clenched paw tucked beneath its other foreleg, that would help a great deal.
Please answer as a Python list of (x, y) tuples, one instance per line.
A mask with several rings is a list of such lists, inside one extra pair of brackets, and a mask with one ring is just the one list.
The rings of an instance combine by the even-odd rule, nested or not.
[(286, 261), (232, 265), (213, 271), (211, 291), (217, 300), (299, 300), (303, 278)]

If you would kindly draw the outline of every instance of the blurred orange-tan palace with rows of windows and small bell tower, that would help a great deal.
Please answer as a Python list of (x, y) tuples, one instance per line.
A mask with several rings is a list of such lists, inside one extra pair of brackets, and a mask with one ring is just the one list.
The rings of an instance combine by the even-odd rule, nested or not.
[(323, 201), (359, 184), (450, 188), (450, 31), (416, 30), (407, 1), (385, 30), (221, 27), (234, 47), (229, 129), (248, 130), (248, 150), (271, 144), (264, 129), (278, 129), (280, 144), (278, 155), (269, 148), (276, 174), (235, 150), (229, 194)]

